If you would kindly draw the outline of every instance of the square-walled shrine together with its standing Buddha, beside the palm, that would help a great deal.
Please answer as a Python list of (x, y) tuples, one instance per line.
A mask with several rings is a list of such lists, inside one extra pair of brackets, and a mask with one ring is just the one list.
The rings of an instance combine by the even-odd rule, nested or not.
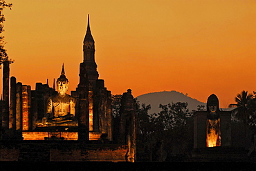
[(194, 148), (231, 145), (231, 112), (219, 110), (219, 99), (211, 94), (207, 111), (194, 114)]

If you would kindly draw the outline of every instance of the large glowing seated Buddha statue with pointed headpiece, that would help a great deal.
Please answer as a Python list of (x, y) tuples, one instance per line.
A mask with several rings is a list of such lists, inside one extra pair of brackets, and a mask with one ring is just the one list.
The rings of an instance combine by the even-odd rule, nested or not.
[(77, 125), (75, 119), (75, 98), (66, 94), (68, 79), (66, 79), (64, 66), (62, 74), (57, 79), (58, 94), (48, 98), (46, 116), (43, 123), (46, 125)]

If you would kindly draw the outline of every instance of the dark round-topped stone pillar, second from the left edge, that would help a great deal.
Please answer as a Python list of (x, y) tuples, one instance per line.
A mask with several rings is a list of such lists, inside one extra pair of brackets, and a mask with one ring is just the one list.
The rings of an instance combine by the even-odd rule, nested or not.
[(16, 78), (10, 78), (10, 117), (9, 117), (10, 137), (15, 137), (16, 131)]

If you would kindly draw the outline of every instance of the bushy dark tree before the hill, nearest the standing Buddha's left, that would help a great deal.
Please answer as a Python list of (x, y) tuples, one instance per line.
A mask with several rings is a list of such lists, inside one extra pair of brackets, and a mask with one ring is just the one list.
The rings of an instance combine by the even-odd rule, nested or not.
[[(192, 113), (188, 110), (188, 103), (177, 102), (168, 105), (160, 105), (162, 109), (152, 122), (156, 129), (162, 129), (158, 132), (158, 139), (164, 139), (165, 148), (174, 154), (188, 155), (192, 135), (189, 134), (188, 119)], [(176, 151), (174, 151), (176, 150)]]

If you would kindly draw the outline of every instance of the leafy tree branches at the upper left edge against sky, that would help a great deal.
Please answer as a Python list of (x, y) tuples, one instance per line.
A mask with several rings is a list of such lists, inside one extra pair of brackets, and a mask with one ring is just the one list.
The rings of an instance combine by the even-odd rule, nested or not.
[[(6, 3), (4, 0), (0, 0), (0, 34), (4, 31), (3, 30), (3, 22), (6, 21), (6, 18), (3, 15), (3, 9), (4, 8), (10, 8), (12, 7), (12, 3)], [(12, 59), (9, 59), (8, 54), (6, 52), (6, 49), (4, 48), (4, 37), (0, 36), (0, 68), (1, 64), (5, 61), (8, 61), (9, 63), (12, 63)]]

